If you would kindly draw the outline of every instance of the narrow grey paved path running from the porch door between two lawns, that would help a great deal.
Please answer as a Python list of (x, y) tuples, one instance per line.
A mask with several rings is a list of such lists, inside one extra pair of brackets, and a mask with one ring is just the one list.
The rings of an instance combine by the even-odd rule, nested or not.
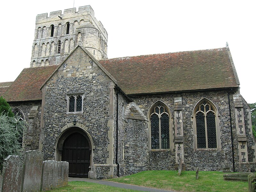
[(140, 186), (136, 186), (136, 185), (116, 183), (116, 182), (100, 180), (100, 179), (69, 177), (68, 181), (85, 181), (85, 182), (90, 182), (90, 183), (98, 183), (98, 184), (102, 184), (102, 185), (109, 185), (109, 186), (112, 186), (112, 187), (119, 187), (119, 188), (124, 188), (124, 189), (133, 189), (133, 190), (138, 190), (138, 191), (174, 192), (174, 191), (168, 191), (168, 190), (162, 190), (162, 189), (156, 189), (156, 188), (140, 187)]

